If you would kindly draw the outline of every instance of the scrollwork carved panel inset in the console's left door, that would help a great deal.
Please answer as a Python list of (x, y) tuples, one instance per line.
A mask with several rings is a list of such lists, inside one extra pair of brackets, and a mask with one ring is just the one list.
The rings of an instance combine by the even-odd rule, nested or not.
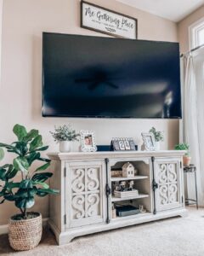
[(100, 166), (71, 169), (72, 219), (100, 216)]

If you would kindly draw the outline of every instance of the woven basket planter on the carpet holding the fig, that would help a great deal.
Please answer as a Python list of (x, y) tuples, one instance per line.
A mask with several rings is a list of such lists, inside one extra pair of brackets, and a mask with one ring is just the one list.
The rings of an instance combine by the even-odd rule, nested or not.
[(8, 240), (10, 246), (16, 251), (31, 250), (41, 241), (42, 215), (37, 212), (31, 213), (37, 217), (22, 220), (9, 219)]

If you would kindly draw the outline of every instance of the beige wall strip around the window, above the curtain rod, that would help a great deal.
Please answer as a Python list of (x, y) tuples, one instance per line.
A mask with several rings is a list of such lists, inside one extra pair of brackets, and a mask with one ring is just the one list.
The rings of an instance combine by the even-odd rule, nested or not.
[(189, 26), (204, 17), (204, 5), (178, 22), (178, 41), (182, 53), (189, 50)]

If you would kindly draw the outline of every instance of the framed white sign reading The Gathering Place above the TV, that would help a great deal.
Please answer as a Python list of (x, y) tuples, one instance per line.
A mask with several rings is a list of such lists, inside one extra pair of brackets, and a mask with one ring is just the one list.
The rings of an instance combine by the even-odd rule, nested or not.
[(85, 1), (81, 2), (81, 26), (118, 38), (137, 39), (137, 19)]

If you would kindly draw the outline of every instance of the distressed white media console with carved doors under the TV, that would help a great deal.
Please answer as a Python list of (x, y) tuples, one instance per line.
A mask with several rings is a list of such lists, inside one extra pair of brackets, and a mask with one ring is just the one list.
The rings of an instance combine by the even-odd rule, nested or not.
[[(48, 154), (54, 170), (51, 187), (60, 190), (50, 197), (48, 224), (59, 245), (76, 236), (185, 216), (183, 155), (184, 151)], [(127, 162), (138, 170), (135, 177), (111, 175)], [(116, 183), (124, 180), (133, 180), (139, 195), (115, 197)], [(147, 211), (112, 218), (112, 204), (127, 203)]]

